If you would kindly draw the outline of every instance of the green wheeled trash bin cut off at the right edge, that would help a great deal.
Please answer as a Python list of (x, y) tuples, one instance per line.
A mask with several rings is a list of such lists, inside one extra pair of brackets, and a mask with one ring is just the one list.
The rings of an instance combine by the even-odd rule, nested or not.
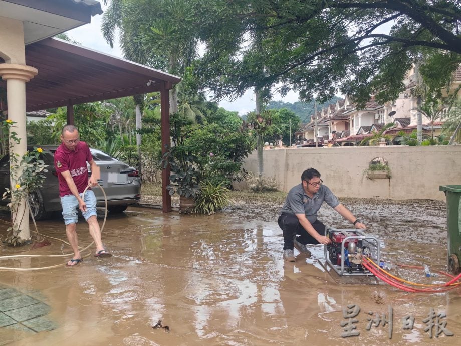
[(444, 191), (446, 197), (448, 268), (458, 274), (461, 262), (461, 185), (441, 185), (438, 190)]

